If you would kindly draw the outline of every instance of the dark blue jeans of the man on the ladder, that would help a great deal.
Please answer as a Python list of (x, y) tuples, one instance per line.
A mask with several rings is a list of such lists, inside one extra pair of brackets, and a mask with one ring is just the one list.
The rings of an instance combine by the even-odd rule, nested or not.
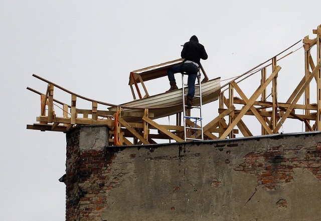
[(184, 62), (183, 64), (170, 67), (167, 70), (167, 75), (168, 75), (170, 81), (174, 81), (175, 80), (175, 76), (174, 76), (175, 73), (182, 73), (183, 72), (184, 74), (188, 74), (189, 76), (187, 79), (187, 85), (189, 87), (189, 91), (188, 91), (187, 95), (194, 96), (194, 94), (195, 94), (195, 80), (196, 80), (196, 76), (197, 76), (198, 71), (199, 71), (199, 68), (195, 64), (190, 63), (190, 62), (188, 62), (188, 63)]

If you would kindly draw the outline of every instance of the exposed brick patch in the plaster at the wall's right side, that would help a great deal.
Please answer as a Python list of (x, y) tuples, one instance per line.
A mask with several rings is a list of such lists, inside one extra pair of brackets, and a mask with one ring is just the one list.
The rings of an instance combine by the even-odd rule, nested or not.
[(257, 184), (275, 189), (277, 183), (293, 181), (293, 168), (306, 168), (321, 180), (321, 144), (312, 148), (298, 146), (283, 149), (283, 146), (269, 147), (267, 151), (249, 152), (244, 162), (234, 170), (253, 174)]

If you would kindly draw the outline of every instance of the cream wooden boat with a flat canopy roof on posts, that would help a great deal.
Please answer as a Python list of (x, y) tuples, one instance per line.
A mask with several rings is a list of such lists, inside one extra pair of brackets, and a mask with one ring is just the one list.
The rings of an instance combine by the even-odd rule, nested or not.
[[(167, 69), (171, 66), (178, 65), (183, 62), (183, 59), (177, 59), (166, 63), (142, 68), (139, 70), (131, 71), (129, 76), (129, 85), (133, 93), (134, 100), (126, 103), (119, 104), (122, 107), (122, 112), (134, 113), (140, 112), (144, 108), (148, 108), (151, 119), (156, 119), (164, 116), (173, 115), (183, 111), (183, 89), (177, 89), (170, 92), (159, 93), (155, 95), (149, 95), (145, 88), (143, 81), (151, 80), (162, 76), (167, 76)], [(208, 80), (208, 77), (200, 66), (203, 72), (204, 79), (202, 81), (202, 104), (206, 104), (217, 100), (221, 92), (220, 77)], [(141, 83), (145, 95), (142, 97), (137, 86), (137, 82)], [(140, 99), (135, 99), (135, 94), (132, 85), (135, 85), (137, 93)], [(185, 87), (185, 93), (187, 94), (188, 87)], [(199, 88), (195, 88), (195, 94), (199, 94)], [(194, 97), (194, 105), (200, 104), (200, 98)], [(127, 107), (127, 108), (126, 108)], [(116, 107), (110, 107), (109, 110), (116, 110)], [(125, 117), (126, 121), (141, 121), (141, 117), (134, 117), (134, 114), (130, 114), (130, 117)]]

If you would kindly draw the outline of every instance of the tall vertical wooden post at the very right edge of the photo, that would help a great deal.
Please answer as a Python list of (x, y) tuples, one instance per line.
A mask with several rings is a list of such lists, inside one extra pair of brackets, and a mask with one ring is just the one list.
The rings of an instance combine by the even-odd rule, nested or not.
[[(316, 64), (321, 62), (321, 25), (317, 26), (316, 29)], [(317, 72), (317, 117), (316, 117), (316, 130), (321, 130), (321, 67)]]

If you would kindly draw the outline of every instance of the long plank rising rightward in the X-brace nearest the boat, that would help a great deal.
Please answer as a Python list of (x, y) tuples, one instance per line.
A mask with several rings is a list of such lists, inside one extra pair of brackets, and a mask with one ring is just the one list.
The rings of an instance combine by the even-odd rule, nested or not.
[(241, 112), (235, 117), (234, 121), (229, 125), (229, 127), (225, 130), (225, 132), (220, 136), (220, 139), (225, 139), (226, 136), (230, 133), (230, 131), (236, 126), (236, 124), (239, 122), (239, 120), (244, 116), (244, 114), (247, 112), (248, 109), (253, 105), (254, 101), (258, 98), (258, 96), (262, 93), (264, 88), (272, 81), (274, 76), (278, 73), (278, 71), (281, 69), (280, 66), (277, 66), (275, 70), (271, 73), (271, 75), (266, 79), (266, 81), (263, 83), (263, 85), (259, 86), (258, 89), (252, 94), (252, 96), (249, 99), (248, 104), (246, 104)]

